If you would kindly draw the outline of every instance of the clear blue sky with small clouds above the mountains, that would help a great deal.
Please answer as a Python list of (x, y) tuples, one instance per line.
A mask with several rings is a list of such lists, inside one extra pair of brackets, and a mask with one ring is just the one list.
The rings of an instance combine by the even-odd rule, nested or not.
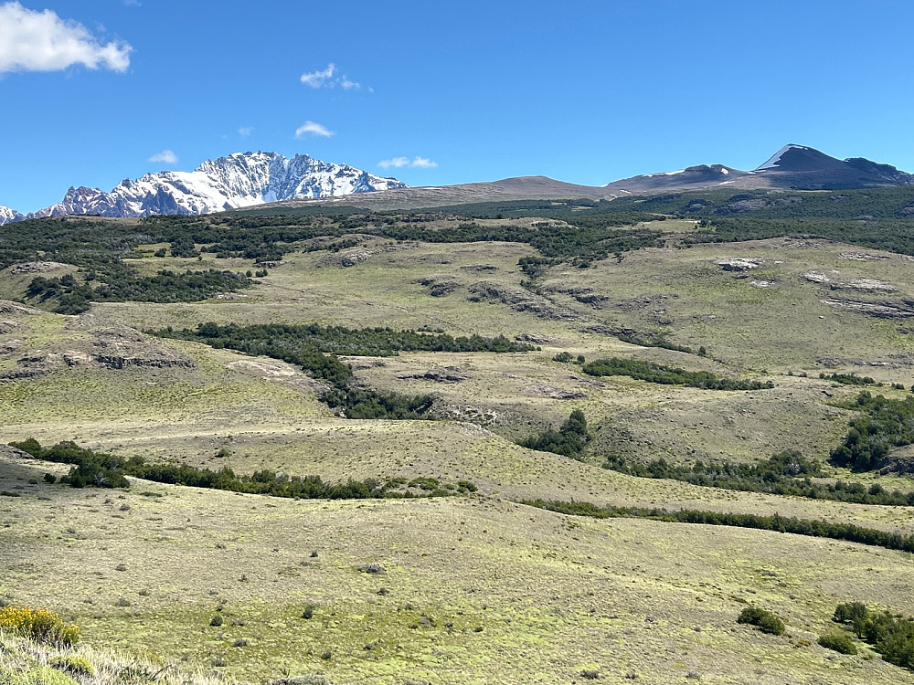
[(0, 0), (0, 205), (246, 150), (412, 185), (787, 142), (914, 172), (912, 25), (908, 1)]

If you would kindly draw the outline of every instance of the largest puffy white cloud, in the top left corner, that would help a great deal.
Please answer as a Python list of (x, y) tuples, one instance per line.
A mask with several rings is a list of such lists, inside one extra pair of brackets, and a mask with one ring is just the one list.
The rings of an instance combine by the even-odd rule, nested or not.
[(59, 71), (74, 64), (125, 71), (132, 50), (122, 41), (101, 45), (88, 28), (49, 9), (37, 12), (18, 2), (0, 5), (0, 73)]

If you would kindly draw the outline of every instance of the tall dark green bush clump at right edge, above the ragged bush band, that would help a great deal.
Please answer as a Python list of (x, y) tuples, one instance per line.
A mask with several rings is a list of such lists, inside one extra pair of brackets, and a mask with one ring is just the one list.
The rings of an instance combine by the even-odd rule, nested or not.
[(881, 469), (891, 448), (914, 444), (914, 397), (887, 399), (865, 390), (846, 408), (863, 412), (850, 422), (842, 444), (829, 457), (857, 471)]

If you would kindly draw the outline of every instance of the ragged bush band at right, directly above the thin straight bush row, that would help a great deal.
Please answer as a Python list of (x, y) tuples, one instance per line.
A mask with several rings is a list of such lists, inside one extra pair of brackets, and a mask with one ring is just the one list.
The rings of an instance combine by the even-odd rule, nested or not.
[(845, 480), (813, 480), (823, 476), (822, 465), (814, 459), (804, 458), (792, 449), (751, 464), (730, 461), (706, 464), (696, 461), (691, 465), (680, 466), (666, 459), (655, 459), (647, 464), (629, 464), (623, 457), (611, 456), (603, 463), (603, 468), (640, 478), (683, 480), (708, 488), (770, 492), (774, 495), (856, 504), (914, 506), (914, 491), (886, 490), (878, 483), (866, 488), (862, 483)]

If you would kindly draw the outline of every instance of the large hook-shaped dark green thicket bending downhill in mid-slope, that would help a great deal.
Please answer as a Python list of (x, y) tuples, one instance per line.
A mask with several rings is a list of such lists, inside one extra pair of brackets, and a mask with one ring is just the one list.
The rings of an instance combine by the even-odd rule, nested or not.
[(479, 335), (453, 337), (445, 333), (394, 331), (390, 328), (348, 329), (343, 326), (258, 324), (219, 326), (201, 323), (196, 330), (150, 331), (165, 338), (205, 342), (298, 364), (330, 388), (321, 395), (327, 405), (339, 408), (348, 418), (428, 418), (433, 398), (430, 395), (383, 393), (353, 385), (352, 367), (337, 353), (388, 356), (398, 352), (526, 352), (530, 345), (511, 342), (505, 336)]

